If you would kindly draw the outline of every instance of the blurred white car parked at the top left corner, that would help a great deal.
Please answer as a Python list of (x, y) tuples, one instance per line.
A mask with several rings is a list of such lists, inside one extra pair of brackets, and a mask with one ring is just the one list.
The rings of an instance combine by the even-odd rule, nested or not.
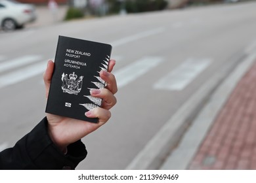
[(3, 30), (14, 30), (36, 19), (35, 7), (16, 1), (0, 0), (0, 25)]

